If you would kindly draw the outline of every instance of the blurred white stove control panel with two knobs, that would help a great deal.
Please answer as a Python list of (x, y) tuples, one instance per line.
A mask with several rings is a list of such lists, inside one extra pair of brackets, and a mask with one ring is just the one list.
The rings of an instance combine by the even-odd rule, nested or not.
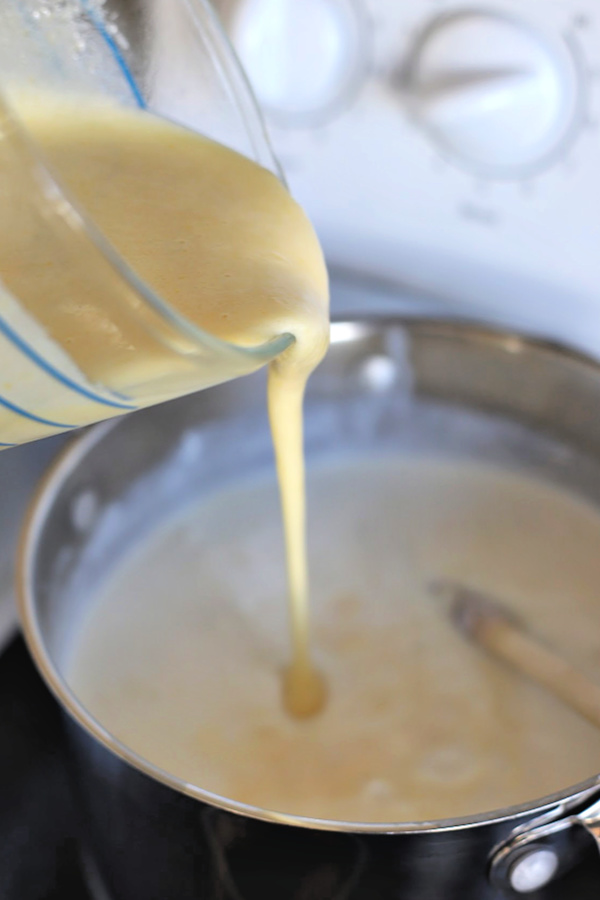
[(214, 0), (333, 266), (600, 355), (596, 0)]

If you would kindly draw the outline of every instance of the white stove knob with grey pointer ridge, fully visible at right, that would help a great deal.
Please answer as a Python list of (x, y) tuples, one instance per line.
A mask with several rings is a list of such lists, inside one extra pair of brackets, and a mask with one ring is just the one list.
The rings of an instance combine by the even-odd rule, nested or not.
[(405, 89), (414, 118), (444, 150), (506, 176), (546, 161), (577, 109), (566, 45), (495, 12), (436, 19), (414, 48)]

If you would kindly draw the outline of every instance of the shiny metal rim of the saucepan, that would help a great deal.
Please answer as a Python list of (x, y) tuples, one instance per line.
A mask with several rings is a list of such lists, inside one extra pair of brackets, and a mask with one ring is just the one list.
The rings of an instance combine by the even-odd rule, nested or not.
[[(554, 341), (527, 337), (517, 332), (473, 323), (470, 320), (450, 320), (438, 317), (424, 319), (405, 315), (390, 316), (389, 314), (381, 317), (377, 315), (353, 315), (351, 318), (333, 322), (332, 344), (344, 343), (357, 336), (376, 333), (390, 326), (404, 328), (408, 331), (419, 330), (423, 332), (425, 330), (455, 339), (460, 337), (468, 338), (479, 343), (486, 343), (497, 349), (504, 348), (510, 353), (514, 353), (515, 348), (518, 347), (523, 351), (530, 350), (552, 356), (559, 355), (563, 359), (568, 359), (571, 362), (593, 369), (600, 375), (600, 364), (579, 351), (569, 349)], [(119, 423), (120, 419), (112, 419), (74, 437), (58, 454), (43, 475), (29, 504), (22, 527), (17, 554), (16, 577), (21, 626), (35, 665), (54, 696), (70, 717), (106, 749), (149, 778), (180, 794), (219, 809), (273, 824), (355, 834), (414, 834), (471, 829), (511, 819), (535, 817), (557, 807), (570, 808), (588, 800), (598, 792), (600, 789), (600, 774), (593, 775), (574, 786), (569, 786), (562, 791), (557, 791), (539, 799), (528, 800), (513, 806), (473, 816), (423, 822), (353, 822), (318, 819), (263, 809), (212, 793), (153, 765), (127, 747), (127, 745), (117, 740), (100, 722), (90, 715), (54, 666), (46, 649), (38, 622), (33, 573), (35, 571), (37, 549), (46, 519), (64, 481), (85, 459), (88, 452), (96, 444), (100, 443), (113, 428), (118, 427)]]

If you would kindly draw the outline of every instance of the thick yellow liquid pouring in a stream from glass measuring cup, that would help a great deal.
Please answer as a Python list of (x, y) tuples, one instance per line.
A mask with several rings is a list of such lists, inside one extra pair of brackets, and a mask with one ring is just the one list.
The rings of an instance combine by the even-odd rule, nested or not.
[[(327, 273), (314, 231), (270, 172), (164, 120), (48, 98), (23, 98), (16, 110), (68, 195), (173, 309), (240, 346), (294, 335), (271, 365), (268, 388), (292, 624), (284, 698), (294, 715), (317, 712), (325, 692), (309, 648), (302, 398), (327, 349), (329, 320)], [(178, 360), (161, 354), (151, 330), (138, 327), (131, 298), (113, 303), (94, 280), (91, 262), (85, 292), (76, 280), (70, 284), (75, 265), (85, 265), (84, 246), (66, 264), (65, 241), (40, 228), (35, 216), (19, 215), (13, 193), (15, 208), (8, 203), (0, 213), (0, 272), (13, 297), (92, 381), (126, 389), (172, 379)], [(188, 373), (189, 353), (180, 364)], [(211, 362), (212, 382), (237, 374), (231, 366), (226, 356), (219, 365)], [(185, 377), (187, 391), (198, 387), (193, 370)], [(150, 393), (148, 402), (156, 399)]]

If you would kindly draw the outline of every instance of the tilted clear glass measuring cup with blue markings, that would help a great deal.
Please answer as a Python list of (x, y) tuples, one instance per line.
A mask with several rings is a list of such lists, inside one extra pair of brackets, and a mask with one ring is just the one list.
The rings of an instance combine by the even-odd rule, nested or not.
[[(226, 361), (250, 373), (289, 346), (280, 335), (256, 347), (220, 340), (144, 284), (62, 190), (19, 118), (17, 97), (40, 85), (77, 102), (98, 96), (195, 129), (281, 173), (243, 72), (208, 0), (4, 0), (0, 10), (0, 198), (27, 224), (0, 242), (0, 446), (56, 434), (208, 387)], [(86, 327), (68, 304), (34, 296), (16, 267), (35, 265), (38, 233), (51, 248), (53, 287), (85, 297), (104, 329), (130, 349), (151, 347), (151, 383), (135, 367), (102, 377), (79, 349)], [(47, 250), (46, 250), (47, 253)], [(23, 275), (23, 268), (20, 270)], [(23, 284), (25, 283), (25, 286)], [(69, 347), (48, 339), (68, 316)], [(89, 318), (89, 316), (88, 316)], [(82, 342), (83, 347), (85, 342)], [(215, 365), (217, 364), (217, 365)]]

